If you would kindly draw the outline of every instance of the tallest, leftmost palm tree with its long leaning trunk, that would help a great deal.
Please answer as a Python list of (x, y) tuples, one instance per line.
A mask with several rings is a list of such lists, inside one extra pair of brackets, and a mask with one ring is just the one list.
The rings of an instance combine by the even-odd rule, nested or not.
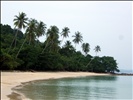
[(28, 18), (26, 17), (26, 14), (23, 12), (19, 13), (18, 16), (15, 15), (15, 19), (13, 21), (14, 21), (15, 28), (17, 27), (17, 32), (16, 32), (14, 39), (9, 47), (8, 53), (9, 53), (10, 48), (13, 45), (13, 43), (15, 44), (14, 47), (16, 47), (16, 38), (17, 38), (18, 30), (21, 30), (22, 28), (24, 28), (24, 29), (26, 28), (27, 20), (28, 20)]

